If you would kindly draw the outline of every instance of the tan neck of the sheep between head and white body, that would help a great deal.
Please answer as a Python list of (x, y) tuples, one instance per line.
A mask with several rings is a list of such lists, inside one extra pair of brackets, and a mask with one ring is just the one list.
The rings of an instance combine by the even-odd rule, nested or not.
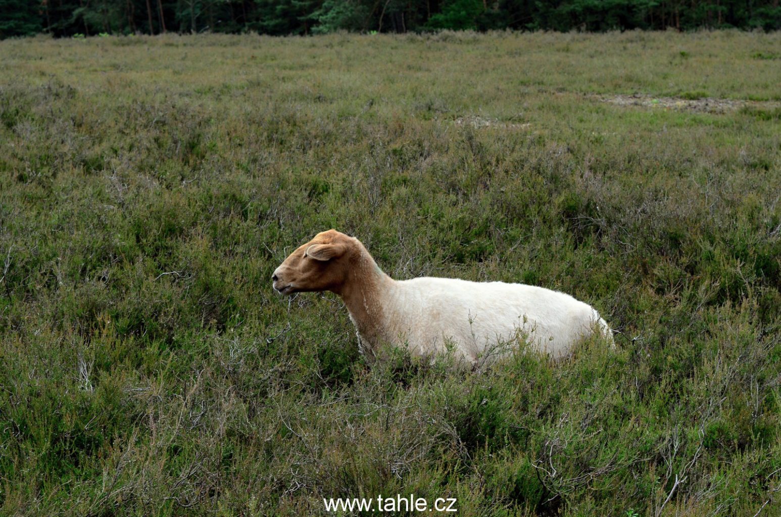
[(339, 293), (361, 339), (371, 346), (387, 339), (380, 298), (392, 283), (391, 277), (383, 273), (366, 253), (353, 265), (348, 281)]

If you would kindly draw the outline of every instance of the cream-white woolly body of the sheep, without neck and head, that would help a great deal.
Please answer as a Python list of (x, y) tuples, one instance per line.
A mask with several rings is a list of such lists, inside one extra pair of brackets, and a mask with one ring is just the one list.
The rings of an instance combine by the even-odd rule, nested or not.
[(564, 355), (601, 321), (569, 294), (522, 283), (422, 277), (396, 282), (391, 298), (394, 338), (421, 354), (452, 341), (470, 360), (519, 333), (551, 355)]

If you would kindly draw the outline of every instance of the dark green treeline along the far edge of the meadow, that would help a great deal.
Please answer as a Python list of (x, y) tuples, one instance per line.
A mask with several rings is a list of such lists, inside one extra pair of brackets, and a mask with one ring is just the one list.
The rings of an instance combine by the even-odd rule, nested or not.
[(0, 37), (334, 30), (776, 30), (779, 0), (0, 0)]

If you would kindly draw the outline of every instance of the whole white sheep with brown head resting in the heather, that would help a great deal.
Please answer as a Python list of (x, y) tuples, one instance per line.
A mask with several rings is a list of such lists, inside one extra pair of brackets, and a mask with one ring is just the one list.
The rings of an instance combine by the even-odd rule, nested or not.
[(338, 294), (358, 330), (359, 347), (373, 353), (383, 344), (424, 357), (449, 349), (475, 366), (493, 346), (512, 343), (519, 334), (553, 358), (569, 355), (594, 331), (612, 344), (604, 319), (569, 294), (521, 283), (393, 280), (361, 241), (337, 230), (293, 251), (271, 278), (283, 295)]

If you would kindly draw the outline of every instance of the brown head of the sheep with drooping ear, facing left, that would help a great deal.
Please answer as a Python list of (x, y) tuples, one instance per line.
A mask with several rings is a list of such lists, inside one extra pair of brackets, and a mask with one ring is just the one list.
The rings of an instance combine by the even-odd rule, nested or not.
[(292, 294), (311, 291), (340, 292), (358, 247), (353, 237), (328, 230), (293, 251), (276, 268), (271, 280), (276, 291)]

